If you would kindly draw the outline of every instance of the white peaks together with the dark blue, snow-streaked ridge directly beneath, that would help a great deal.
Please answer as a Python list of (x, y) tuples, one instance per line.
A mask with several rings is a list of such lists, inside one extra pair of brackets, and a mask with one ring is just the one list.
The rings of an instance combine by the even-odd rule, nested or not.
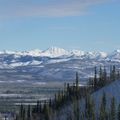
[(120, 50), (115, 50), (110, 54), (106, 52), (84, 52), (81, 50), (65, 50), (58, 47), (51, 47), (47, 50), (35, 49), (22, 52), (4, 50), (0, 52), (0, 68), (55, 64), (72, 61), (75, 59), (87, 61), (88, 64), (90, 60), (92, 60), (93, 62), (120, 62)]

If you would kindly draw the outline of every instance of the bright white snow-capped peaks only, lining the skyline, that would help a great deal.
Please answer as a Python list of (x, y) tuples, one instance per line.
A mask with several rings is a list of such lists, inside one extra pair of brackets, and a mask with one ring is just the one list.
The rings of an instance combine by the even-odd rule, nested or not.
[(92, 51), (92, 52), (84, 52), (81, 50), (65, 50), (63, 48), (59, 48), (59, 47), (50, 47), (47, 50), (39, 50), (39, 49), (35, 49), (35, 50), (30, 50), (30, 51), (8, 51), (8, 50), (4, 50), (4, 51), (0, 51), (0, 55), (2, 54), (14, 54), (14, 57), (20, 57), (20, 56), (46, 56), (46, 57), (60, 57), (60, 56), (86, 56), (89, 57), (91, 59), (96, 58), (96, 57), (101, 57), (101, 58), (106, 58), (106, 57), (114, 57), (114, 58), (120, 58), (120, 50), (115, 50), (112, 53), (108, 54), (106, 52), (101, 52), (101, 51)]

